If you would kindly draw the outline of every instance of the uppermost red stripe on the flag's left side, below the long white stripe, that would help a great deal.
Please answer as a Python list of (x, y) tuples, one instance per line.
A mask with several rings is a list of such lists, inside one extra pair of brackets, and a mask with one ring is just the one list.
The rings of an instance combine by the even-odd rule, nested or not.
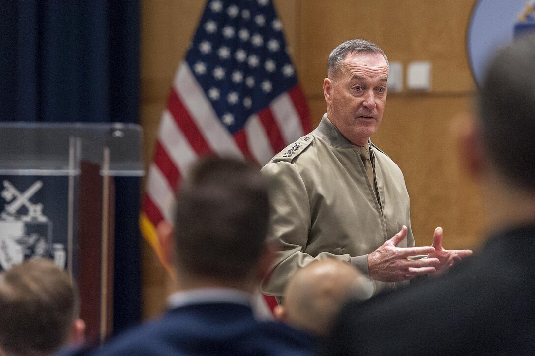
[(169, 102), (167, 102), (167, 109), (171, 113), (174, 121), (179, 126), (180, 130), (186, 136), (189, 145), (192, 146), (193, 150), (197, 152), (198, 155), (202, 156), (204, 154), (211, 153), (212, 150), (208, 143), (204, 140), (204, 137), (201, 131), (195, 125), (191, 115), (188, 110), (182, 104), (182, 101), (177, 95), (177, 92), (172, 88), (169, 93)]

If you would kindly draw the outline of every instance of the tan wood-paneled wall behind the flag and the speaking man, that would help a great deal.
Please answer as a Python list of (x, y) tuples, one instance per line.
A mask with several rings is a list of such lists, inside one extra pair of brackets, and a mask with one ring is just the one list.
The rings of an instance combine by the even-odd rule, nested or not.
[[(417, 245), (431, 243), (434, 227), (445, 247), (480, 242), (480, 197), (457, 160), (451, 119), (469, 112), (475, 94), (465, 36), (475, 0), (274, 0), (315, 127), (325, 111), (322, 82), (328, 53), (350, 38), (365, 38), (404, 67), (432, 63), (432, 90), (389, 93), (373, 141), (402, 169), (411, 197)], [(195, 32), (202, 0), (143, 0), (141, 123), (152, 157), (155, 133), (174, 71)], [(161, 312), (166, 276), (143, 243), (144, 315)]]

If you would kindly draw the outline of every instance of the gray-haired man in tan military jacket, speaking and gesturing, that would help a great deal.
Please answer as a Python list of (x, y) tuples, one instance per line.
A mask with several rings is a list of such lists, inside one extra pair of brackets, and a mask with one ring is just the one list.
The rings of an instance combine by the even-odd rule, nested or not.
[(383, 50), (363, 40), (342, 43), (329, 56), (327, 74), (319, 126), (262, 168), (275, 187), (271, 237), (281, 246), (263, 292), (282, 296), (288, 278), (314, 259), (349, 262), (377, 293), (443, 273), (469, 256), (442, 249), (440, 228), (433, 246), (414, 247), (403, 174), (370, 141), (386, 102)]

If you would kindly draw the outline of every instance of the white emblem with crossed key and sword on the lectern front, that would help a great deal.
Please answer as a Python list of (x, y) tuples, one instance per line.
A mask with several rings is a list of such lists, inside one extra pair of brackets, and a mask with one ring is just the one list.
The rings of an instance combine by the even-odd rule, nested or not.
[(43, 182), (35, 181), (24, 191), (3, 181), (0, 196), (5, 200), (0, 213), (0, 266), (9, 269), (32, 257), (53, 258), (65, 268), (65, 246), (52, 244), (52, 221), (43, 214), (43, 204), (30, 201)]

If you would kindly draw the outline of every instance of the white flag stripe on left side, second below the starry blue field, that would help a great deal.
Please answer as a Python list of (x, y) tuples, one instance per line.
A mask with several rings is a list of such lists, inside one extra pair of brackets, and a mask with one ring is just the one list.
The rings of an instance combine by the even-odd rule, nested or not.
[(158, 137), (175, 167), (184, 175), (188, 166), (197, 158), (197, 154), (167, 109), (162, 114)]

